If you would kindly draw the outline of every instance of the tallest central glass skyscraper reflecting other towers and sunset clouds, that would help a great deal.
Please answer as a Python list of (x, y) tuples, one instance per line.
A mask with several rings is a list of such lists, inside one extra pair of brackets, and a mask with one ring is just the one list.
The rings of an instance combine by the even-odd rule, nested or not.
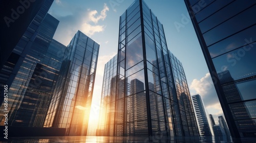
[(138, 0), (120, 16), (118, 54), (105, 64), (97, 135), (156, 134), (199, 136), (182, 65)]

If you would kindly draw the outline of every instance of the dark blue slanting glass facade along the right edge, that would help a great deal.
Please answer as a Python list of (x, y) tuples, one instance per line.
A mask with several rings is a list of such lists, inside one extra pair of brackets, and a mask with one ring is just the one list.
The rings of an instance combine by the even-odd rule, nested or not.
[(256, 2), (185, 3), (232, 137), (256, 137)]

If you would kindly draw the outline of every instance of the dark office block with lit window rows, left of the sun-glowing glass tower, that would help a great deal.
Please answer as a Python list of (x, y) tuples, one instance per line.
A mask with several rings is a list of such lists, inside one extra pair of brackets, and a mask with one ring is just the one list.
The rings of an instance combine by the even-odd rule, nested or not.
[[(38, 25), (31, 45), (24, 47), (24, 51), (27, 51), (25, 57), (20, 56), (17, 61), (20, 62), (20, 67), (15, 65), (17, 69), (13, 69), (13, 72), (16, 71), (16, 75), (11, 75), (15, 76), (14, 80), (10, 80), (12, 77), (8, 79), (11, 83), (7, 84), (9, 126), (42, 127), (44, 125), (63, 58), (58, 52), (66, 49), (66, 46), (52, 40), (58, 22), (50, 14), (45, 16)], [(1, 111), (3, 114), (5, 109)], [(4, 120), (2, 115), (1, 125), (4, 125)]]

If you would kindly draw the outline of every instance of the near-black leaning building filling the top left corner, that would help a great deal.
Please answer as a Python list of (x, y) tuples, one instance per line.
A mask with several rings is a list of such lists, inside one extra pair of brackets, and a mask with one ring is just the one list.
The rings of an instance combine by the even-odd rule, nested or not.
[[(38, 35), (39, 25), (45, 18), (53, 0), (40, 2), (26, 1), (1, 1), (1, 42), (0, 42), (0, 96), (4, 97), (4, 85), (11, 85), (17, 72), (22, 65), (31, 45)], [(30, 5), (24, 8), (22, 14), (12, 14), (15, 8), (23, 7), (22, 4)], [(3, 4), (3, 5), (2, 5)], [(4, 19), (18, 16), (12, 22)], [(9, 20), (8, 20), (9, 21)], [(7, 24), (8, 23), (8, 24)], [(8, 27), (9, 26), (9, 27)], [(52, 34), (52, 33), (51, 33)], [(0, 98), (2, 104), (4, 98)]]

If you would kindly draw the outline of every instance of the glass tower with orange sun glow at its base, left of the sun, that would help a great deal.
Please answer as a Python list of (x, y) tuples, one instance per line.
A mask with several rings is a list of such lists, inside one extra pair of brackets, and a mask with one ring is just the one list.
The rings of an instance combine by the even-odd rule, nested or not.
[(87, 135), (99, 44), (78, 31), (64, 54), (44, 127)]

